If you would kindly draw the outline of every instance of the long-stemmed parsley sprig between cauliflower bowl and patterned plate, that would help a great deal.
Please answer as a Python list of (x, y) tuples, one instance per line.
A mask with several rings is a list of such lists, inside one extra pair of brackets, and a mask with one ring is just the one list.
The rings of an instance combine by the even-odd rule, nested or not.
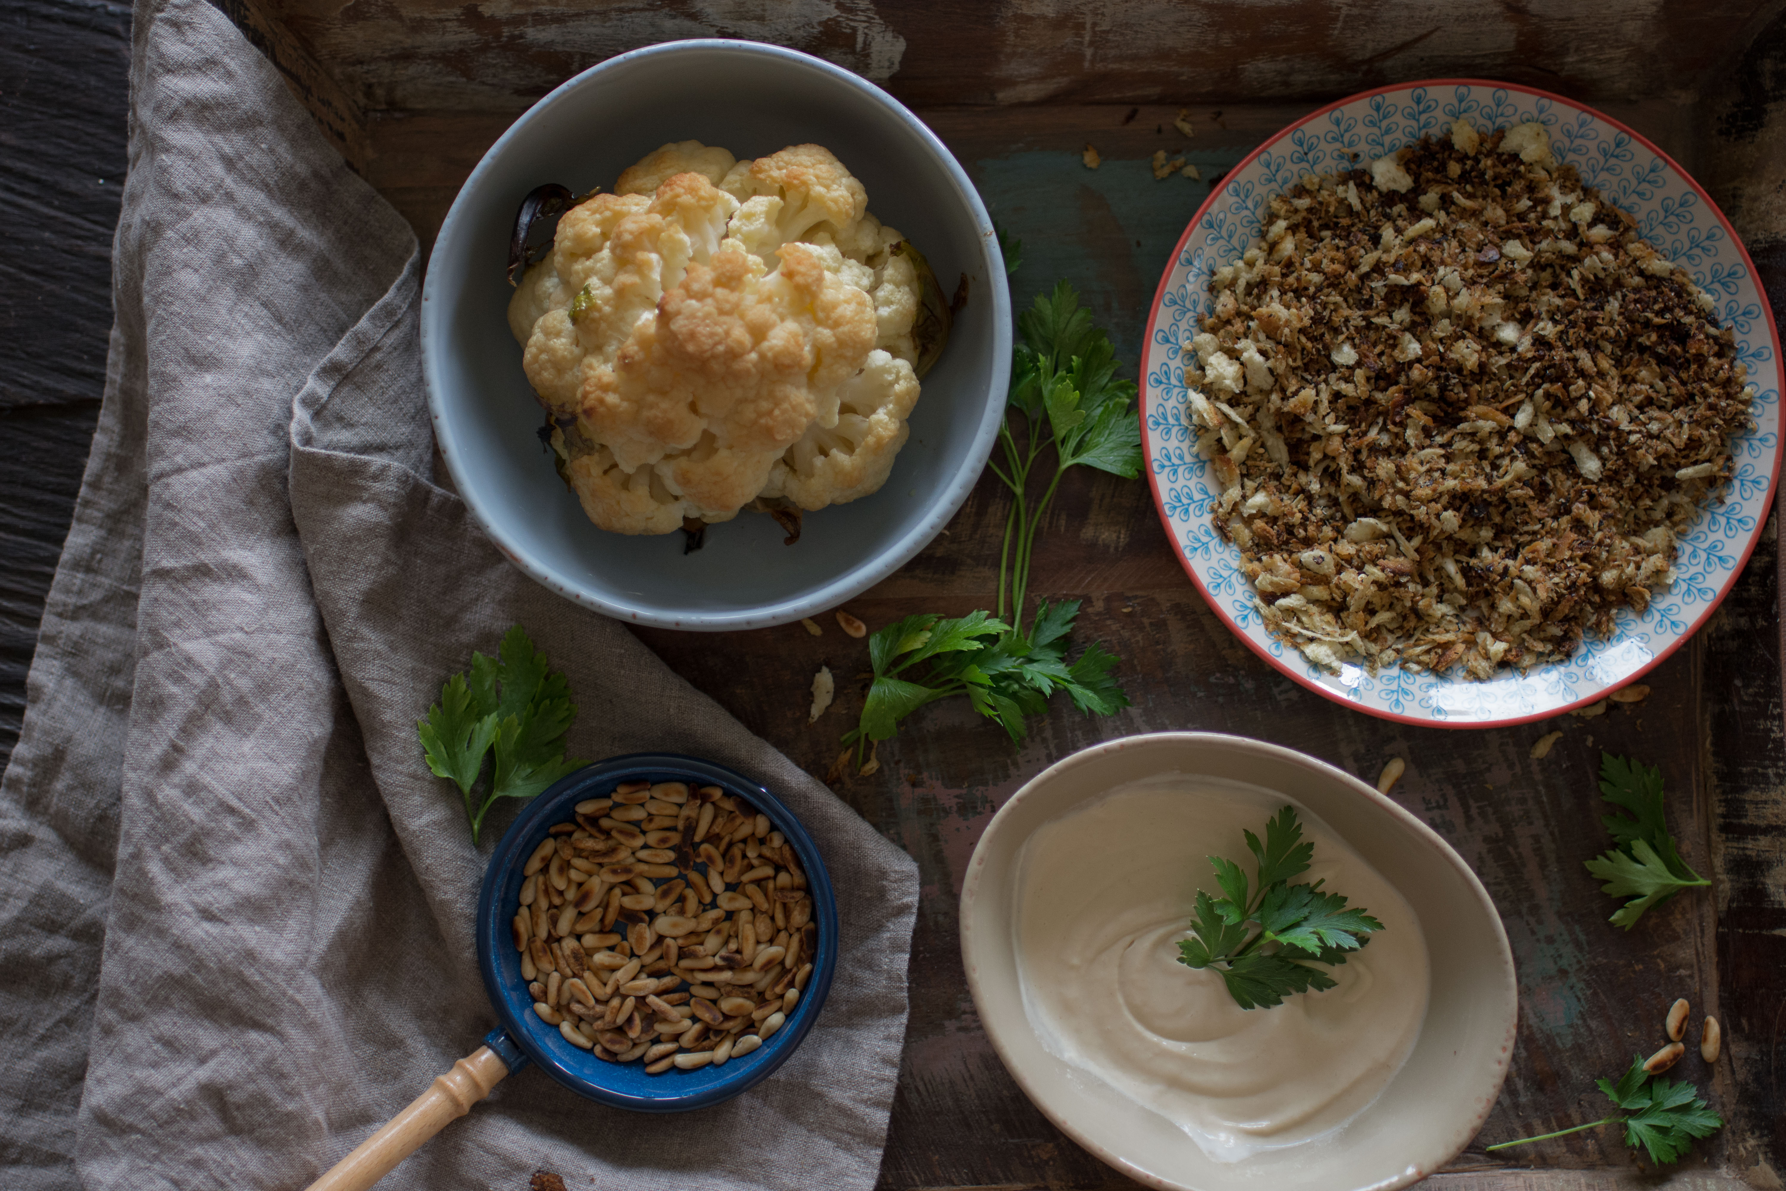
[[(1016, 268), (1022, 243), (1000, 234), (1000, 246), (1007, 268)], [(1025, 718), (1045, 712), (1061, 691), (1086, 714), (1109, 716), (1129, 705), (1111, 679), (1113, 654), (1093, 643), (1066, 661), (1079, 600), (1038, 602), (1027, 627), (1023, 611), (1036, 534), (1061, 477), (1081, 466), (1123, 479), (1141, 471), (1134, 396), (1134, 382), (1116, 375), (1109, 336), (1064, 280), (1018, 318), (998, 429), (1004, 461), (988, 464), (1013, 496), (998, 552), (998, 607), (959, 618), (920, 612), (870, 637), (868, 698), (855, 729), (843, 736), (859, 757), (895, 736), (911, 712), (957, 695), (1013, 741), (1025, 737)], [(1050, 455), (1054, 471), (1041, 484)]]

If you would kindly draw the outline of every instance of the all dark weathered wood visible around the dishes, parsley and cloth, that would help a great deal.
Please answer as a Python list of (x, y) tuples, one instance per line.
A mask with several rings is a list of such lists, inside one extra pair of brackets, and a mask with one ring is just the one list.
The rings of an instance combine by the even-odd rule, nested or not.
[[(1207, 179), (1289, 120), (1363, 86), (1434, 75), (1506, 77), (1568, 93), (1631, 123), (1707, 184), (1732, 216), (1775, 309), (1786, 302), (1782, 4), (1707, 0), (1609, 16), (1390, 0), (1354, 9), (1289, 0), (1197, 7), (1025, 0), (957, 11), (931, 2), (825, 0), (777, 12), (705, 4), (218, 0), (286, 71), (348, 159), (429, 243), (455, 187), (518, 111), (593, 61), (675, 36), (750, 36), (825, 54), (882, 80), (968, 168), (995, 218), (1025, 241), (1013, 298), (1068, 279), (1132, 368), (1159, 270)], [(109, 245), (123, 171), (129, 7), (0, 0), (0, 750), (104, 386)], [(1266, 46), (1266, 48), (1259, 48)], [(1193, 139), (1172, 118), (1189, 109)], [(1079, 159), (1093, 143), (1104, 164)], [(1206, 182), (1156, 182), (1147, 157), (1184, 154)], [(420, 382), (418, 382), (420, 400)], [(1004, 504), (984, 482), (931, 548), (848, 607), (870, 627), (989, 607), (986, 543)], [(888, 1189), (1134, 1186), (1064, 1139), (1018, 1091), (981, 1029), (961, 971), (956, 896), (979, 832), (1027, 777), (1098, 739), (1164, 729), (1254, 736), (1373, 780), (1475, 868), (1520, 970), (1513, 1070), (1481, 1137), (1427, 1186), (1659, 1186), (1616, 1130), (1490, 1155), (1484, 1145), (1600, 1116), (1593, 1079), (1659, 1045), (1675, 996), (1716, 1012), (1725, 1059), (1677, 1073), (1731, 1120), (1668, 1186), (1786, 1187), (1786, 739), (1779, 680), (1775, 525), (1729, 598), (1647, 682), (1598, 718), (1506, 730), (1406, 727), (1327, 702), (1270, 670), (1186, 580), (1147, 484), (1073, 475), (1048, 518), (1032, 591), (1084, 600), (1081, 641), (1122, 657), (1134, 707), (1088, 720), (1064, 702), (1013, 748), (964, 705), (936, 705), (880, 748), (880, 771), (838, 793), (918, 859), (911, 1023)], [(827, 623), (718, 636), (639, 630), (697, 687), (813, 773), (861, 705), (866, 652)], [(839, 696), (807, 725), (805, 687), (829, 664)], [(1561, 730), (1548, 757), (1532, 741)], [(1632, 932), (1581, 861), (1604, 850), (1602, 748), (1663, 768), (1675, 834), (1715, 895), (1688, 895)], [(4, 757), (4, 752), (0, 752)], [(1588, 1114), (1593, 1116), (1588, 1116)], [(563, 1171), (572, 1175), (573, 1171)]]

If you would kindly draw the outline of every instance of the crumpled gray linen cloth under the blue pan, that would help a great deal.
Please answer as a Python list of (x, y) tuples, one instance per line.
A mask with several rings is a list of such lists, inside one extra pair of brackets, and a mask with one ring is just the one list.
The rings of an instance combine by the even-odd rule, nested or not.
[(520, 621), (575, 755), (688, 752), (786, 798), (838, 887), (838, 980), (725, 1105), (527, 1070), (382, 1186), (872, 1187), (913, 862), (497, 554), (430, 480), (407, 225), (204, 0), (143, 0), (134, 43), (105, 404), (0, 786), (5, 1186), (302, 1187), (477, 1048), (489, 841), (414, 723)]

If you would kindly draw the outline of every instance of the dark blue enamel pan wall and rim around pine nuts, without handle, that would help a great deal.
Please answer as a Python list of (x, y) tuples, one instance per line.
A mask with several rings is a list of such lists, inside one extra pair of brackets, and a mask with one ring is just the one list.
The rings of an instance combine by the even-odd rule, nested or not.
[[(698, 1091), (672, 1096), (636, 1096), (604, 1087), (579, 1070), (579, 1066), (564, 1062), (557, 1054), (541, 1046), (536, 1034), (541, 1030), (555, 1034), (557, 1030), (541, 1025), (532, 1011), (527, 987), (511, 987), (497, 970), (497, 955), (504, 954), (502, 948), (513, 950), (514, 946), (509, 936), (509, 916), (505, 914), (507, 886), (513, 884), (507, 877), (518, 873), (527, 862), (532, 850), (547, 837), (547, 829), (563, 818), (573, 796), (589, 786), (611, 787), (618, 782), (645, 777), (652, 777), (652, 780), (688, 780), (691, 784), (722, 786), (725, 793), (741, 795), (759, 812), (766, 814), (770, 823), (782, 832), (800, 857), (800, 864), (805, 870), (807, 891), (813, 895), (813, 921), (818, 923), (818, 954), (809, 961), (813, 975), (807, 979), (800, 1000), (795, 1002), (793, 1014), (777, 1030), (775, 1037), (759, 1046), (757, 1054), (761, 1059), (755, 1062), (739, 1061), (736, 1075), (727, 1075)], [(775, 1073), (775, 1068), (793, 1055), (813, 1029), (825, 1005), (825, 996), (830, 993), (830, 980), (838, 966), (838, 900), (830, 887), (830, 875), (825, 871), (825, 861), (820, 857), (818, 845), (813, 843), (805, 827), (800, 825), (800, 820), (795, 818), (793, 811), (780, 798), (761, 784), (714, 761), (682, 754), (625, 754), (597, 761), (559, 779), (547, 791), (529, 800), (489, 855), (489, 864), (484, 868), (484, 880), (477, 895), (475, 923), (477, 968), (484, 979), (484, 991), (489, 996), (489, 1004), (497, 1011), (497, 1018), (509, 1039), (529, 1061), (564, 1087), (589, 1100), (634, 1112), (688, 1112), (691, 1109), (705, 1109), (739, 1096), (766, 1080)], [(593, 1064), (589, 1070), (609, 1066), (602, 1064), (600, 1059), (589, 1059), (589, 1064)], [(629, 1070), (630, 1066), (627, 1064)], [(661, 1079), (673, 1077), (673, 1071), (664, 1071)]]

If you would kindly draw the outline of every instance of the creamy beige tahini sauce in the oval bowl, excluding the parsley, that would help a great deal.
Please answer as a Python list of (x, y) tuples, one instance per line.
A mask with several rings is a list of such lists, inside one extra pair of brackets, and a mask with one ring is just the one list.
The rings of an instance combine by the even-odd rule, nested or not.
[(1297, 1145), (1357, 1116), (1402, 1066), (1427, 1011), (1427, 946), (1406, 900), (1302, 807), (1313, 868), (1384, 929), (1329, 968), (1338, 987), (1241, 1009), (1222, 977), (1179, 962), (1207, 855), (1256, 875), (1241, 830), (1293, 798), (1164, 775), (1043, 825), (1018, 862), (1023, 1005), (1064, 1062), (1152, 1109), (1216, 1161)]

